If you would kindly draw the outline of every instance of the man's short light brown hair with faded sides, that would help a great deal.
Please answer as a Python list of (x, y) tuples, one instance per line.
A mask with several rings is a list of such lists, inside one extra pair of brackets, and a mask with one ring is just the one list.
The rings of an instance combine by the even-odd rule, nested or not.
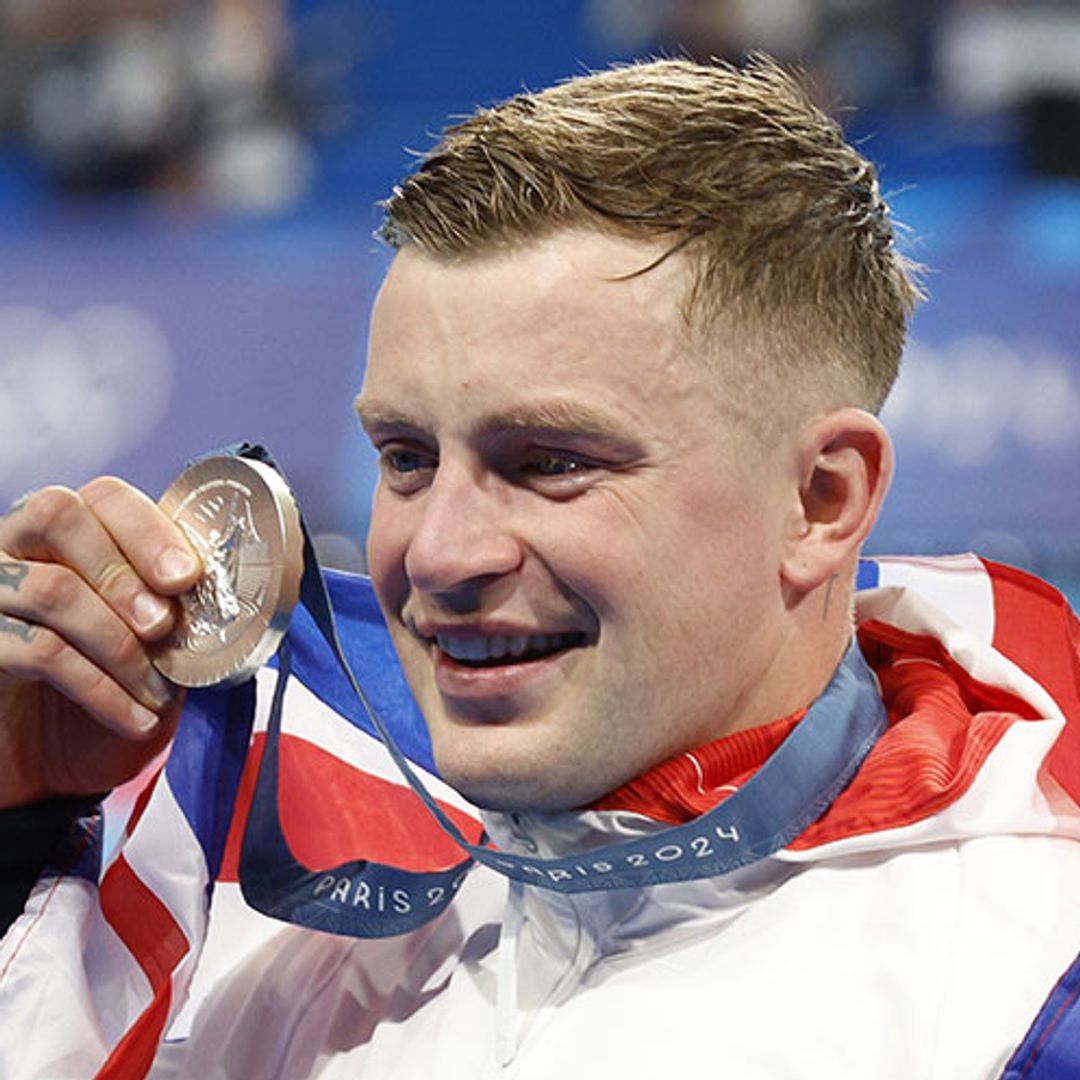
[(384, 211), (391, 246), (438, 256), (562, 228), (664, 245), (640, 272), (680, 252), (688, 329), (773, 409), (877, 411), (920, 295), (874, 166), (760, 55), (633, 64), (480, 109)]

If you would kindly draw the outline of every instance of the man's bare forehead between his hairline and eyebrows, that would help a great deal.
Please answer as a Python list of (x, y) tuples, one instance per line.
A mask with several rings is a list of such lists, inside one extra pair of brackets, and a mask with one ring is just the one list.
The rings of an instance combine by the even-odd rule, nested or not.
[(664, 254), (578, 231), (460, 258), (407, 247), (376, 301), (363, 397), (667, 381), (688, 334), (685, 269)]

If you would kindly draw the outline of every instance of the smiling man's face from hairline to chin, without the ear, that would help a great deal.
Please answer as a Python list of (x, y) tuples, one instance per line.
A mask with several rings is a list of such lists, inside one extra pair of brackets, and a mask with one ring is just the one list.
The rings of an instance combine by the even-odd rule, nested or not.
[(788, 497), (686, 354), (677, 258), (564, 232), (399, 254), (359, 405), (370, 572), (435, 760), (483, 806), (584, 805), (767, 714)]

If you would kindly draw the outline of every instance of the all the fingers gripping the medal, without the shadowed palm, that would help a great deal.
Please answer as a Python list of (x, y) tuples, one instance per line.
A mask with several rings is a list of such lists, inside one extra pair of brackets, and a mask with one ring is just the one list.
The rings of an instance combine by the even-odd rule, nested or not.
[(118, 734), (147, 738), (175, 690), (146, 645), (200, 570), (179, 529), (119, 480), (31, 492), (0, 518), (0, 684), (51, 686)]

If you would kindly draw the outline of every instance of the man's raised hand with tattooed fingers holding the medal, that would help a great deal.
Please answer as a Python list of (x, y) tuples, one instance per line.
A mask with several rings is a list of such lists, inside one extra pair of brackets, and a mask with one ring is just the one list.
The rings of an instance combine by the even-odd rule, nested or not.
[(200, 571), (183, 532), (113, 477), (0, 517), (0, 809), (113, 787), (167, 744), (179, 693), (146, 647)]

